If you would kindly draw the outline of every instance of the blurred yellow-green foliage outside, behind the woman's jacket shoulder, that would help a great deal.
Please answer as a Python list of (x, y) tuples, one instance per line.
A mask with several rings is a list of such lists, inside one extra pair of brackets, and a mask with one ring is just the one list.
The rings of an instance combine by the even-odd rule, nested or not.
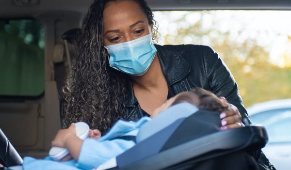
[[(185, 26), (185, 18), (190, 13), (197, 13), (200, 18)], [(235, 77), (246, 107), (262, 101), (291, 98), (291, 54), (285, 54), (285, 67), (272, 64), (267, 47), (259, 45), (256, 39), (242, 38), (243, 29), (237, 32), (216, 29), (220, 23), (211, 12), (189, 12), (173, 22), (177, 23), (178, 31), (165, 34), (164, 43), (185, 44), (186, 41), (215, 49)], [(205, 27), (205, 22), (211, 26)]]

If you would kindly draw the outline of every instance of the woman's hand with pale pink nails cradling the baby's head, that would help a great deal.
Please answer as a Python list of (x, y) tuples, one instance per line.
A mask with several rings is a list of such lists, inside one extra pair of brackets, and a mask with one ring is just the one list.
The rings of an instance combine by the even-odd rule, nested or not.
[(243, 127), (242, 115), (239, 109), (227, 102), (226, 98), (220, 97), (220, 100), (228, 105), (228, 109), (220, 114), (221, 130), (229, 128)]

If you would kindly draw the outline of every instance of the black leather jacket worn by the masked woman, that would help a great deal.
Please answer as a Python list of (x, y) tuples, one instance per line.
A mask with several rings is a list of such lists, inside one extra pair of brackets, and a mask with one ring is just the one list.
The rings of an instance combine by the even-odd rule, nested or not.
[[(239, 109), (242, 118), (248, 120), (237, 83), (226, 64), (213, 49), (198, 45), (155, 46), (162, 72), (169, 89), (171, 88), (174, 94), (201, 87), (217, 96), (224, 96), (229, 103)], [(144, 116), (132, 88), (125, 102), (126, 120), (137, 121)]]

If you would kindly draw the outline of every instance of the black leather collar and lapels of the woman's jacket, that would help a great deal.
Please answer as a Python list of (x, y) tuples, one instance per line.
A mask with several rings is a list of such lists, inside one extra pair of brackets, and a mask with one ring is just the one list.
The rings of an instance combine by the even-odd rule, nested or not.
[[(155, 45), (155, 47), (157, 48), (157, 54), (162, 67), (162, 72), (168, 82), (169, 87), (182, 80), (190, 73), (191, 68), (189, 64), (180, 55), (180, 53), (178, 53), (178, 49), (181, 49), (182, 45)], [(134, 105), (137, 105), (137, 101), (133, 93), (132, 83), (129, 84), (129, 92), (127, 93), (125, 106), (133, 107)]]

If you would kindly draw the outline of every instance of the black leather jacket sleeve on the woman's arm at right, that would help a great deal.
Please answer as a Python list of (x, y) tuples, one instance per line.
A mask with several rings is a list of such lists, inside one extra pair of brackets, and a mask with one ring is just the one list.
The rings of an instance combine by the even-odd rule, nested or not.
[(242, 115), (242, 119), (247, 118), (248, 123), (250, 124), (247, 111), (242, 103), (238, 85), (226, 64), (209, 46), (204, 48), (203, 56), (206, 75), (209, 79), (211, 91), (217, 96), (225, 97), (229, 103), (236, 106)]

